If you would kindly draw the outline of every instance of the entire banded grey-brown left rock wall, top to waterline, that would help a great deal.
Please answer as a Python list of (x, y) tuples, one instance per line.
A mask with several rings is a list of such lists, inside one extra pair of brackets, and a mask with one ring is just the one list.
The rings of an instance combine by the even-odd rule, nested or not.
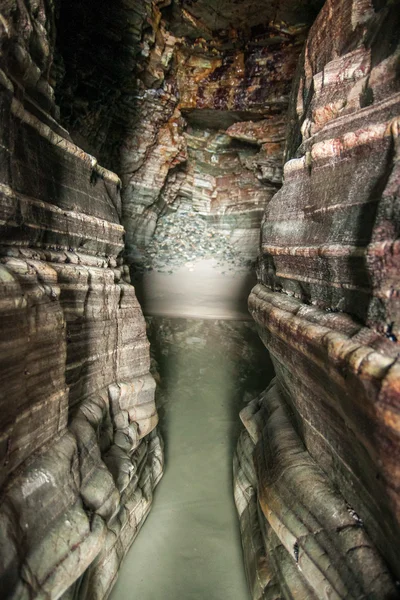
[(101, 599), (163, 455), (121, 183), (57, 121), (52, 6), (0, 15), (0, 595)]

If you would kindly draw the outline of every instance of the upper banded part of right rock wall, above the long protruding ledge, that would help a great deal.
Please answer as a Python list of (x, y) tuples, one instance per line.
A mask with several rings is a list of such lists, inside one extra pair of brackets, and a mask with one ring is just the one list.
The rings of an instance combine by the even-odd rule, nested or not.
[(332, 3), (310, 32), (261, 278), (396, 335), (399, 23), (395, 9), (362, 6)]

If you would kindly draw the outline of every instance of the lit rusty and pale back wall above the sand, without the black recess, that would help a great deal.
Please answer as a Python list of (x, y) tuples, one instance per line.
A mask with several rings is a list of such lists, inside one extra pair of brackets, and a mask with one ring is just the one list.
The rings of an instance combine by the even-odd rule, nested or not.
[[(176, 232), (188, 230), (189, 214), (195, 243), (193, 251), (183, 244), (182, 258), (219, 253), (231, 266), (252, 265), (262, 214), (282, 180), (285, 114), (307, 26), (271, 22), (256, 32), (201, 37), (199, 23), (197, 30), (182, 29), (175, 15), (164, 27), (182, 36), (174, 38), (168, 71), (178, 104), (157, 138), (135, 138), (139, 148), (140, 140), (154, 145), (142, 153), (124, 196), (129, 261), (146, 269), (184, 263), (159, 242), (174, 238), (178, 253), (183, 240)], [(152, 96), (155, 106), (163, 102), (162, 91)], [(148, 129), (146, 119), (142, 127)]]

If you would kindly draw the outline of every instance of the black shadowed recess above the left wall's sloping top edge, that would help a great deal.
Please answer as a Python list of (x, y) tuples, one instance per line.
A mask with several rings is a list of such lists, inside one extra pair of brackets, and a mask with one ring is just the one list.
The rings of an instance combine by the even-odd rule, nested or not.
[(157, 2), (60, 0), (55, 18), (51, 76), (62, 121), (82, 148), (115, 169), (142, 79), (150, 77), (145, 66), (160, 22)]

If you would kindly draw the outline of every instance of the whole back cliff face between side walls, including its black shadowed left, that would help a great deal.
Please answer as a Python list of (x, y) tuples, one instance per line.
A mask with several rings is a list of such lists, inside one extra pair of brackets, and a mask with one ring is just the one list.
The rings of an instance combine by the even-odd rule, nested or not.
[(318, 3), (266, 5), (260, 14), (248, 2), (217, 11), (203, 2), (139, 4), (117, 3), (112, 15), (90, 2), (61, 6), (53, 71), (63, 122), (121, 177), (135, 272), (158, 268), (165, 248), (157, 262), (149, 245), (168, 234), (162, 217), (179, 227), (182, 211), (207, 230), (190, 260), (215, 255), (207, 238), (216, 231), (231, 264), (250, 265), (282, 181), (292, 79)]

